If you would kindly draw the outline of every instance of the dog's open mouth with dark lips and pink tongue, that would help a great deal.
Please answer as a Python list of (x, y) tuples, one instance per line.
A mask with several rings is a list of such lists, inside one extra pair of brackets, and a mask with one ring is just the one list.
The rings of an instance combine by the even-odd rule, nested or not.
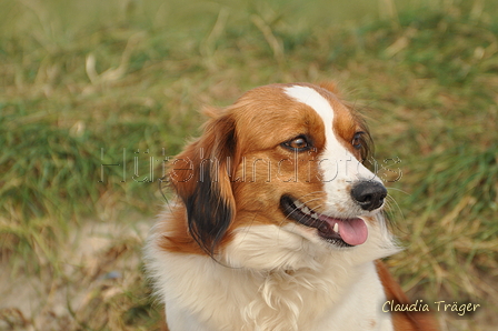
[(318, 234), (337, 247), (353, 247), (368, 238), (365, 221), (359, 218), (338, 219), (319, 213), (289, 195), (280, 198), (283, 213), (291, 220), (318, 230)]

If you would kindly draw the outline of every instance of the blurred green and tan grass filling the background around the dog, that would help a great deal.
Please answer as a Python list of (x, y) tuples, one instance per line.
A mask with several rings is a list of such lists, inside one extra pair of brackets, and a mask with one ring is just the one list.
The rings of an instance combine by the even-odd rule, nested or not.
[(152, 328), (160, 308), (139, 262), (152, 221), (137, 220), (158, 212), (165, 157), (199, 132), (198, 110), (260, 84), (333, 79), (366, 107), (392, 181), (406, 250), (391, 269), (412, 298), (482, 303), (470, 320), (440, 314), (444, 330), (491, 330), (492, 1), (365, 1), (362, 17), (300, 1), (90, 2), (0, 3), (0, 257), (39, 297), (66, 293), (29, 298), (47, 307), (30, 315), (7, 302), (0, 328)]

